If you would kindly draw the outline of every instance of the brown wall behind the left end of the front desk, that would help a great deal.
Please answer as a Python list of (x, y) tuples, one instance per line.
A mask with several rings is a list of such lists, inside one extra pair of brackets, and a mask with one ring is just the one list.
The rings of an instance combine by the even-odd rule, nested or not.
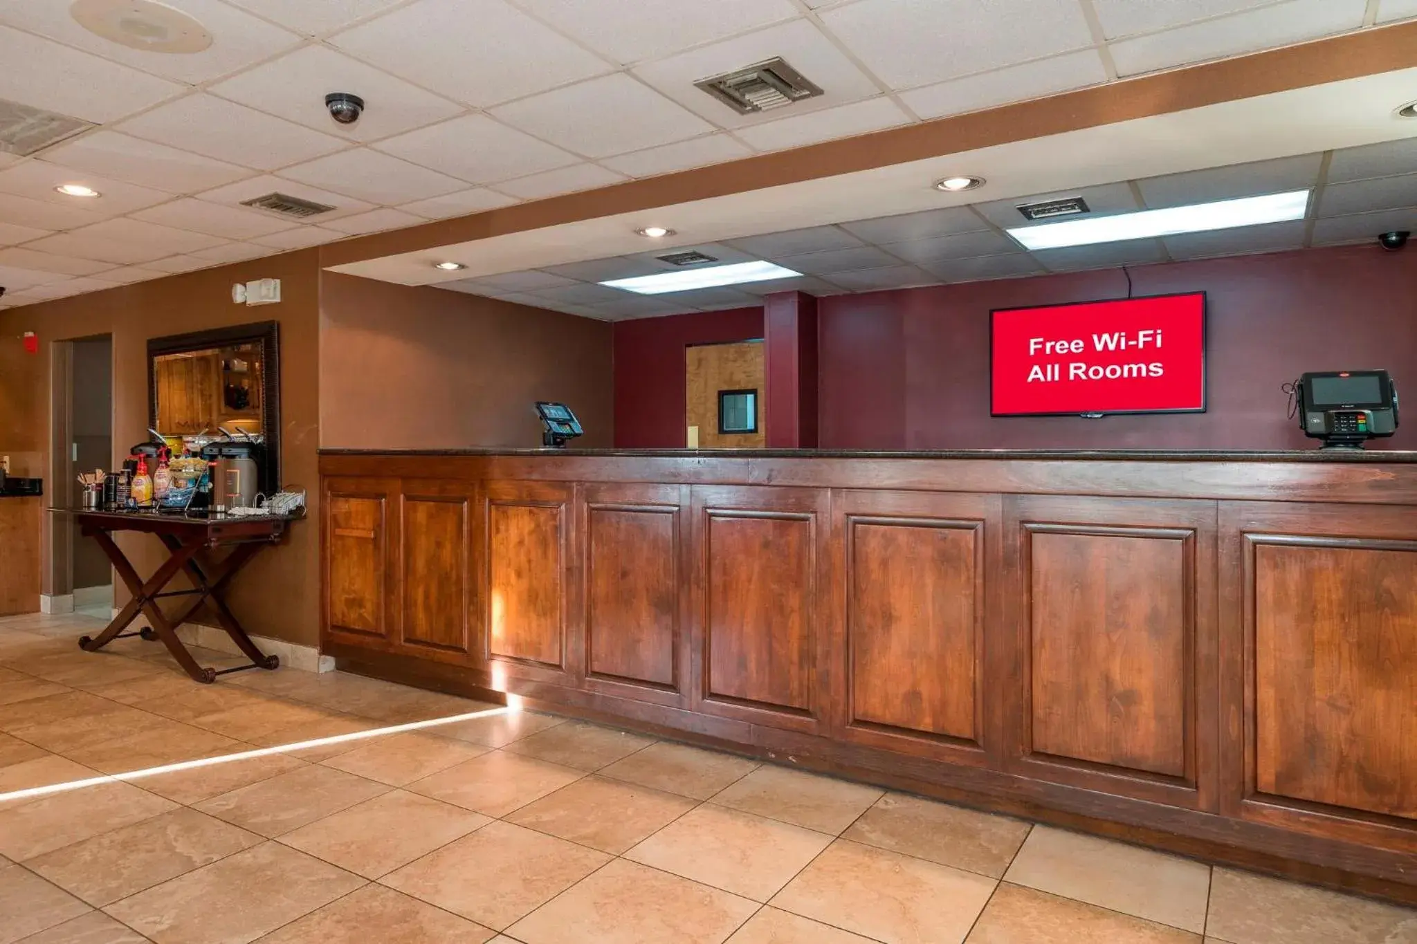
[(540, 446), (534, 401), (575, 410), (577, 446), (614, 444), (609, 324), (445, 289), (322, 279), (323, 447)]

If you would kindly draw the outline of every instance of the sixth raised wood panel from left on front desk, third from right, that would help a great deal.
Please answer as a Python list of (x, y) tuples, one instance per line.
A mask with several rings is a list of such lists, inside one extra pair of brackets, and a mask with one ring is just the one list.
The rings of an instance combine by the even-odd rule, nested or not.
[(982, 763), (995, 495), (840, 493), (842, 736)]

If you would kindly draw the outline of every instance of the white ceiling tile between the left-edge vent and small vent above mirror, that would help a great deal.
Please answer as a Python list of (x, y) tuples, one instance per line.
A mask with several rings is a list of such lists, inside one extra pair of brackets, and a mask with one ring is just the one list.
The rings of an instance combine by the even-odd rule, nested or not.
[(95, 132), (54, 147), (44, 160), (169, 194), (191, 194), (255, 171), (118, 132)]

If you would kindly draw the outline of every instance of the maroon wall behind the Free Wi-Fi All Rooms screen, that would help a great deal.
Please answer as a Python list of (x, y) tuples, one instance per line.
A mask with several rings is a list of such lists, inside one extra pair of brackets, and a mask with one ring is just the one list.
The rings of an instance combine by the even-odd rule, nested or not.
[[(1131, 269), (1136, 294), (1207, 293), (1204, 413), (989, 416), (989, 310), (1122, 297), (1121, 270), (819, 300), (823, 449), (1305, 449), (1280, 385), (1386, 368), (1417, 398), (1417, 258), (1376, 246)], [(616, 348), (616, 354), (618, 354)], [(616, 359), (616, 378), (626, 372)], [(1374, 446), (1417, 447), (1417, 416)]]

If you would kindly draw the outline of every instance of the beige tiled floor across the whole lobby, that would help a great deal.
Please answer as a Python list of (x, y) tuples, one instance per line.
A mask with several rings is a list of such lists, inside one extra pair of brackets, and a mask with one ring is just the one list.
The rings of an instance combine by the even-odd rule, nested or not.
[[(490, 708), (0, 620), (0, 794)], [(203, 661), (230, 662), (215, 652)], [(546, 715), (0, 800), (0, 944), (1417, 944), (1417, 913)]]

